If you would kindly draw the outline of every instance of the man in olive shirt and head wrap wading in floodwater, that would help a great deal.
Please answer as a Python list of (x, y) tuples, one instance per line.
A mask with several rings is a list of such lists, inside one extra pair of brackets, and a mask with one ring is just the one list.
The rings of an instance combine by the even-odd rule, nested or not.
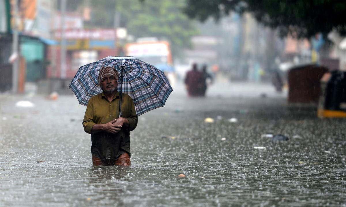
[(122, 93), (118, 118), (118, 79), (115, 68), (101, 68), (98, 81), (103, 92), (91, 97), (86, 106), (83, 127), (91, 134), (92, 165), (131, 165), (130, 131), (136, 128), (138, 117), (133, 100)]

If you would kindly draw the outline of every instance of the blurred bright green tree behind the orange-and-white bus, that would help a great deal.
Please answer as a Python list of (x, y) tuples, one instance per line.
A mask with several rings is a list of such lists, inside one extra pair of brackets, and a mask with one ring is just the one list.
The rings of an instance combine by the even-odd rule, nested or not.
[(157, 37), (170, 41), (173, 55), (191, 46), (191, 36), (198, 34), (194, 22), (182, 13), (186, 1), (91, 1), (90, 24), (112, 27), (114, 13), (120, 13), (120, 26), (135, 38)]

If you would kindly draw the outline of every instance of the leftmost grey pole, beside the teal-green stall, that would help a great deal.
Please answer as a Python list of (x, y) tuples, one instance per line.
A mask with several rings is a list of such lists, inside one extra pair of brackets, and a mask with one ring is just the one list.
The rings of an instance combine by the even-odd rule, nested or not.
[(12, 55), (15, 59), (12, 63), (12, 92), (18, 92), (18, 73), (19, 73), (19, 37), (18, 37), (18, 26), (19, 26), (19, 16), (18, 16), (18, 0), (13, 0), (13, 11), (14, 11), (14, 25), (13, 25), (13, 35), (12, 35)]

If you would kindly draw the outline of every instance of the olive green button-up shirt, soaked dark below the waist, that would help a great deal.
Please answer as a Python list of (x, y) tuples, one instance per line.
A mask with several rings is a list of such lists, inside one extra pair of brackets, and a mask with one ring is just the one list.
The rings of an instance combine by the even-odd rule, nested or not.
[(106, 124), (119, 117), (120, 93), (117, 92), (115, 98), (109, 102), (100, 93), (90, 98), (86, 106), (83, 119), (84, 131), (91, 134), (91, 154), (101, 160), (116, 159), (122, 153), (127, 152), (130, 156), (130, 131), (137, 126), (138, 117), (135, 105), (131, 97), (122, 93), (121, 117), (129, 121), (128, 128), (121, 129), (118, 133), (112, 134), (106, 131), (91, 133), (95, 124)]

